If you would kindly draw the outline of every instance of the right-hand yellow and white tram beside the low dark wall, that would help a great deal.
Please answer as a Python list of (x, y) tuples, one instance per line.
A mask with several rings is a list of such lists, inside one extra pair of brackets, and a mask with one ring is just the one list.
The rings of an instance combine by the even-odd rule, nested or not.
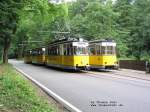
[(92, 69), (117, 69), (116, 42), (108, 39), (90, 41), (89, 64)]

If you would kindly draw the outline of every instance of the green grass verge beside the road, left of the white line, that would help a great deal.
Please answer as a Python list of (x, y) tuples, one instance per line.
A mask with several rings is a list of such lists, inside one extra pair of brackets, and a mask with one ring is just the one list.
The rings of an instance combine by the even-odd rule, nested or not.
[(11, 65), (0, 65), (0, 112), (55, 112)]

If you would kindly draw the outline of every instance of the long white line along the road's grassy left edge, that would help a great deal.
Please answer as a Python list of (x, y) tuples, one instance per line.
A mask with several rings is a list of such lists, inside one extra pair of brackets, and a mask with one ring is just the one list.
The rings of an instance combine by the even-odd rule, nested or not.
[(64, 107), (67, 108), (69, 111), (71, 111), (71, 112), (82, 112), (80, 109), (78, 109), (77, 107), (75, 107), (71, 103), (69, 103), (68, 101), (61, 98), (59, 95), (57, 95), (52, 90), (48, 89), (47, 87), (45, 87), (44, 85), (42, 85), (41, 83), (39, 83), (38, 81), (33, 79), (31, 76), (29, 76), (28, 74), (23, 72), (21, 69), (17, 68), (16, 66), (14, 66), (14, 68), (17, 71), (19, 71), (20, 73), (22, 73), (25, 77), (30, 79), (32, 82), (34, 82), (36, 85), (38, 85), (40, 88), (42, 88), (45, 92), (47, 92), (51, 97), (53, 97), (60, 104), (64, 105)]

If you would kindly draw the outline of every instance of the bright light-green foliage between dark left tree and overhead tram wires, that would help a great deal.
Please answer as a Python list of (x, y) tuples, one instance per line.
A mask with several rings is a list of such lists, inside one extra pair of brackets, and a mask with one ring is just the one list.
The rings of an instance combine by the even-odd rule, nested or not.
[[(20, 21), (16, 33), (19, 38), (16, 44), (28, 41), (27, 46), (33, 48), (51, 40), (54, 38), (52, 33), (56, 30), (53, 29), (52, 24), (57, 18), (65, 18), (65, 13), (67, 12), (64, 12), (64, 4), (53, 5), (48, 0), (33, 0), (30, 6), (25, 6), (19, 13)], [(32, 41), (43, 43), (32, 43)]]

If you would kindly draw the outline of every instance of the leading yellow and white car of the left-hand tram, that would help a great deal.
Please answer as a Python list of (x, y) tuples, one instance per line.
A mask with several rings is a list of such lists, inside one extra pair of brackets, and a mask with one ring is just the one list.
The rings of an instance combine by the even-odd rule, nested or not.
[(63, 69), (89, 68), (88, 42), (83, 39), (62, 39), (46, 47), (46, 65)]

